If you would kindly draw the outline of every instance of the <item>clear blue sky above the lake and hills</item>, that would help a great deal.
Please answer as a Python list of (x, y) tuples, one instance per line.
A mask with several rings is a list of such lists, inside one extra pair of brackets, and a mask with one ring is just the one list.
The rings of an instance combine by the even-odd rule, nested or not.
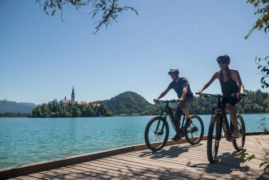
[[(78, 102), (133, 91), (153, 103), (172, 81), (170, 68), (188, 78), (194, 93), (219, 70), (221, 54), (231, 57), (245, 89), (261, 88), (254, 59), (268, 55), (268, 35), (255, 30), (244, 40), (258, 18), (246, 1), (119, 0), (139, 15), (124, 11), (95, 35), (98, 17), (66, 6), (63, 23), (61, 11), (48, 16), (34, 2), (0, 1), (0, 100), (71, 99), (74, 85)], [(204, 92), (221, 93), (218, 80)], [(163, 99), (176, 98), (171, 90)]]

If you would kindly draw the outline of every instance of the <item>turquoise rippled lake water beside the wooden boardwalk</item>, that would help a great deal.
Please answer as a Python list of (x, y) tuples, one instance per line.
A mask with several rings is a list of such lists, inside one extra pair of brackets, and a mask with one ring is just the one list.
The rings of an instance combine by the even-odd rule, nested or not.
[[(211, 115), (199, 115), (207, 135)], [(260, 131), (269, 114), (243, 114), (246, 131)], [(0, 169), (117, 147), (144, 144), (153, 116), (0, 118)], [(228, 116), (229, 118), (229, 116)], [(169, 139), (175, 130), (170, 120)]]

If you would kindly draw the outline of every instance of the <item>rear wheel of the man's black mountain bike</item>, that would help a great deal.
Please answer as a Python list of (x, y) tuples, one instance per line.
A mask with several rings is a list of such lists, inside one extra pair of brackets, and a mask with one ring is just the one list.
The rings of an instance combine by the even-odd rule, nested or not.
[(204, 136), (204, 123), (200, 116), (192, 115), (190, 118), (192, 119), (192, 124), (188, 128), (185, 127), (185, 138), (188, 143), (195, 145), (198, 144)]

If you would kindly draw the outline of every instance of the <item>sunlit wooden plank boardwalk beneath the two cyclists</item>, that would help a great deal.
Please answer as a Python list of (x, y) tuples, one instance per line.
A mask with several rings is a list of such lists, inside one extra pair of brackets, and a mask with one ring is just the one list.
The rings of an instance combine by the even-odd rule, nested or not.
[[(269, 135), (263, 139), (269, 139)], [(268, 148), (268, 140), (261, 136), (246, 136), (242, 152), (262, 158), (263, 147)], [(161, 151), (148, 149), (112, 155), (79, 164), (40, 171), (10, 178), (18, 179), (263, 179), (261, 161), (253, 159), (242, 165), (242, 159), (231, 142), (222, 139), (217, 162), (207, 160), (207, 141), (200, 144), (189, 143), (165, 146)], [(260, 177), (259, 177), (260, 176)], [(267, 176), (269, 177), (269, 176)]]

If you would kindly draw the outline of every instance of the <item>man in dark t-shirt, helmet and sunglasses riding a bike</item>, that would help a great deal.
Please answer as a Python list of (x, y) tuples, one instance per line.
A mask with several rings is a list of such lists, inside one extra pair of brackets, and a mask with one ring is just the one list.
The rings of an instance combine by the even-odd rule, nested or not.
[[(192, 124), (192, 119), (190, 119), (189, 111), (187, 109), (187, 106), (189, 106), (194, 101), (194, 96), (192, 91), (190, 90), (189, 81), (185, 77), (179, 77), (179, 71), (176, 68), (172, 68), (169, 70), (168, 74), (172, 78), (172, 82), (169, 84), (169, 86), (163, 91), (158, 98), (153, 99), (154, 102), (156, 102), (158, 99), (164, 97), (171, 89), (174, 89), (176, 94), (178, 95), (178, 99), (176, 100), (176, 112), (175, 112), (175, 119), (179, 122), (180, 127), (180, 120), (181, 120), (181, 114), (179, 113), (182, 111), (186, 117), (186, 124), (184, 127), (190, 127), (190, 124)], [(178, 134), (175, 134), (174, 137), (171, 138), (172, 140), (178, 140), (180, 137)]]

